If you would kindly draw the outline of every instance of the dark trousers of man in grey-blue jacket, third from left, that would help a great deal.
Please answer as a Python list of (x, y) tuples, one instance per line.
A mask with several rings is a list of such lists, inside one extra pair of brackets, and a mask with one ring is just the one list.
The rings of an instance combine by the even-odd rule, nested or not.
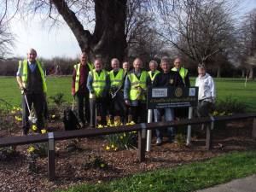
[(90, 127), (95, 127), (96, 115), (101, 116), (101, 122), (97, 122), (98, 125), (107, 125), (106, 114), (106, 97), (90, 99)]

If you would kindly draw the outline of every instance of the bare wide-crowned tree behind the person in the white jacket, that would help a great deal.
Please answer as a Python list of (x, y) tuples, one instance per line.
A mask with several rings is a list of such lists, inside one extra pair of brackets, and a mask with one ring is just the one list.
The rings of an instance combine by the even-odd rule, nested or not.
[(235, 5), (228, 0), (183, 0), (164, 15), (162, 37), (197, 63), (209, 65), (214, 55), (224, 54), (234, 37), (231, 19)]

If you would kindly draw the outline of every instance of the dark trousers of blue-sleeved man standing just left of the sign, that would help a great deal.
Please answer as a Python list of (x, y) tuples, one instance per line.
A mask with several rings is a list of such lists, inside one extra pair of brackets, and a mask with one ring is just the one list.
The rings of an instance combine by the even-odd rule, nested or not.
[(131, 119), (137, 123), (147, 123), (147, 104), (138, 102), (137, 106), (130, 107)]

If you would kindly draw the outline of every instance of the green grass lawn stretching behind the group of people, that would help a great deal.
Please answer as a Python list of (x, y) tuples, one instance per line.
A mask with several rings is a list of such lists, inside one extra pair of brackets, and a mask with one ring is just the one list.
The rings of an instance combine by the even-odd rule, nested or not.
[[(214, 79), (217, 88), (218, 99), (232, 96), (240, 102), (247, 103), (249, 111), (256, 111), (256, 81), (248, 81), (244, 86), (244, 79)], [(0, 77), (0, 98), (11, 103), (20, 105), (20, 90), (15, 77)], [(48, 96), (55, 96), (62, 92), (67, 102), (72, 102), (71, 96), (71, 76), (47, 77)], [(195, 84), (195, 78), (191, 78), (191, 84)]]

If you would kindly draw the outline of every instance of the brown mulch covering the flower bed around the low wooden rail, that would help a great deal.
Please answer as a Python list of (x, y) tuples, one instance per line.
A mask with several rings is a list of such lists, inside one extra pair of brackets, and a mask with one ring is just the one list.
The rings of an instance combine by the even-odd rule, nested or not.
[[(62, 129), (61, 124), (55, 125)], [(19, 146), (10, 160), (0, 161), (0, 191), (53, 191), (67, 189), (79, 183), (99, 183), (114, 178), (125, 177), (137, 172), (148, 172), (158, 168), (173, 167), (192, 161), (207, 160), (214, 156), (232, 151), (244, 151), (256, 148), (256, 141), (251, 138), (252, 120), (229, 123), (227, 128), (213, 131), (213, 148), (207, 151), (204, 147), (205, 131), (193, 129), (196, 137), (192, 138), (190, 147), (178, 147), (177, 143), (164, 143), (156, 146), (153, 139), (152, 151), (146, 153), (146, 161), (139, 163), (137, 150), (107, 151), (107, 142), (102, 137), (83, 138), (79, 141), (79, 150), (67, 151), (69, 141), (55, 144), (56, 181), (49, 182), (47, 157), (37, 161), (38, 172), (31, 172), (28, 167), (26, 149)], [(13, 131), (15, 132), (15, 131)], [(20, 135), (20, 131), (17, 131)], [(0, 130), (0, 137), (9, 133)], [(106, 162), (104, 168), (88, 167), (89, 157), (100, 157)]]

